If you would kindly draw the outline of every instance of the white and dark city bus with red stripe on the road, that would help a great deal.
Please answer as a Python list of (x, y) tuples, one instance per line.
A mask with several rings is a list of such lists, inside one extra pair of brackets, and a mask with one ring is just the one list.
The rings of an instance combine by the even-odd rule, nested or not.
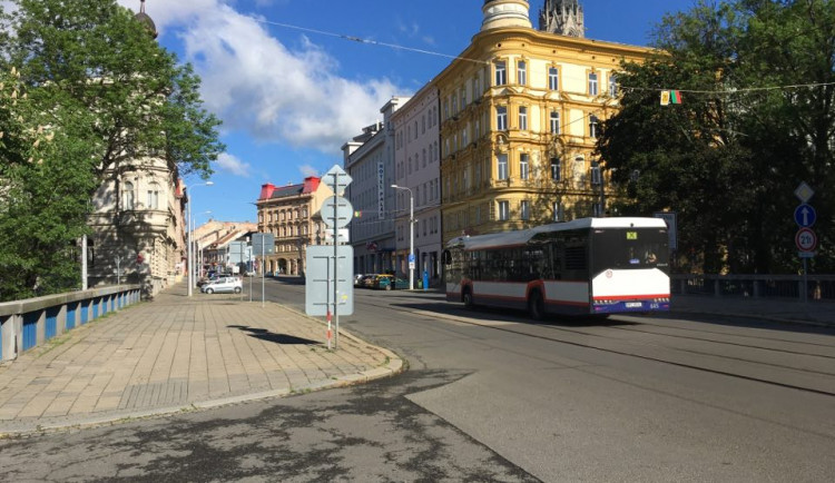
[(552, 315), (670, 309), (669, 238), (660, 218), (581, 218), (462, 236), (443, 253), (446, 299)]

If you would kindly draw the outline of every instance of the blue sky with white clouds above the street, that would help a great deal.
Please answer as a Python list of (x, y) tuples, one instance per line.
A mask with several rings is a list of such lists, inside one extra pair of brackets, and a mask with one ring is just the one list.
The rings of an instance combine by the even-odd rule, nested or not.
[[(139, 0), (118, 0), (135, 11)], [(543, 0), (531, 0), (534, 27)], [(195, 223), (255, 221), (261, 185), (342, 164), (342, 145), (420, 89), (481, 27), (481, 0), (146, 0), (159, 42), (191, 62), (227, 151), (194, 190)], [(646, 46), (694, 0), (581, 0), (586, 36)], [(337, 34), (432, 53), (346, 40)], [(203, 183), (186, 179), (187, 184)], [(207, 214), (206, 211), (212, 211)]]

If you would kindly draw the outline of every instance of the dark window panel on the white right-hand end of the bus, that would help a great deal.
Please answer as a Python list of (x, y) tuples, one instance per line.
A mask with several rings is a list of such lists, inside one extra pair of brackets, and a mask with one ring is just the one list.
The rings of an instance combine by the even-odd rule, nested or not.
[(668, 236), (660, 228), (595, 229), (592, 273), (607, 269), (659, 268), (669, 272)]

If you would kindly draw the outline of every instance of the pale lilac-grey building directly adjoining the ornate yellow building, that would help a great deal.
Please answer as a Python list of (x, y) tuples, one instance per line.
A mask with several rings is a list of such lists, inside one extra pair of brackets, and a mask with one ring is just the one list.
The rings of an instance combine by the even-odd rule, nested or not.
[[(430, 82), (392, 115), (395, 131), (397, 273), (409, 273), (409, 211), (414, 197), (415, 286), (441, 274), (441, 155), (438, 89)], [(391, 188), (395, 190), (394, 188)]]

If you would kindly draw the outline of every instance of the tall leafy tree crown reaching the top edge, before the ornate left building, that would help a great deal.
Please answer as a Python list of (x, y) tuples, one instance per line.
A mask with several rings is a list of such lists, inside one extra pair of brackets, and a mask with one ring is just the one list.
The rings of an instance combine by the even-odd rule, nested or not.
[(105, 140), (97, 175), (141, 154), (165, 154), (181, 176), (207, 178), (224, 146), (202, 107), (199, 79), (115, 0), (12, 0), (16, 36), (2, 53), (26, 85), (95, 112)]

